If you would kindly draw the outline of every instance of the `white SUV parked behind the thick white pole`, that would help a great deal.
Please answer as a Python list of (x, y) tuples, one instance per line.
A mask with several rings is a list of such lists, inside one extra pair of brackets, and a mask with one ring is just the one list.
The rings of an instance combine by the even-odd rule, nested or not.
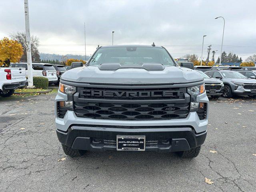
[[(27, 66), (26, 62), (11, 63), (10, 67), (26, 68), (26, 76), (28, 76), (28, 66)], [(49, 84), (57, 84), (58, 83), (57, 73), (52, 64), (32, 62), (32, 74), (33, 74), (33, 76), (40, 76), (40, 77), (48, 78)]]

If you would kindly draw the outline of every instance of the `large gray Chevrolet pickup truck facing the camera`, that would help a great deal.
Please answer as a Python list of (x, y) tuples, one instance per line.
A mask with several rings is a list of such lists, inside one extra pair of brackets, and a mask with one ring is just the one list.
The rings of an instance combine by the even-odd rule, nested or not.
[(209, 101), (198, 72), (162, 46), (102, 46), (65, 72), (56, 133), (68, 156), (87, 150), (177, 152), (194, 158), (206, 138)]

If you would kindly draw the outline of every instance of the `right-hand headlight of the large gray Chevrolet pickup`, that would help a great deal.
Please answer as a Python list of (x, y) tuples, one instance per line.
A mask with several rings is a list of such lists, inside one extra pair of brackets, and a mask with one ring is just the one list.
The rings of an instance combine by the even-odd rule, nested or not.
[(188, 87), (188, 94), (190, 94), (190, 111), (202, 110), (204, 108), (204, 103), (196, 102), (196, 96), (204, 93), (204, 84)]

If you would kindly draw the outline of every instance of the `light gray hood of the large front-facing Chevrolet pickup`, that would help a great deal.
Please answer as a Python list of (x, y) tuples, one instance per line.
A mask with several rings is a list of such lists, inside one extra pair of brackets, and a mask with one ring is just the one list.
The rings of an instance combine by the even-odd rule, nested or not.
[(100, 70), (96, 66), (86, 66), (68, 70), (62, 74), (61, 80), (102, 84), (173, 84), (198, 82), (203, 78), (194, 70), (176, 66), (158, 71), (143, 68)]

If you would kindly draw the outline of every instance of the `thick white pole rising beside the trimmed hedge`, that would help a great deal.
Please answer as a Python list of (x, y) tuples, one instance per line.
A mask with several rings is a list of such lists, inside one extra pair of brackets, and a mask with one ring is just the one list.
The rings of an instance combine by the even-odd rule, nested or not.
[(33, 74), (32, 74), (32, 56), (31, 56), (31, 42), (30, 42), (30, 29), (29, 29), (28, 0), (24, 0), (24, 10), (25, 10), (25, 28), (26, 28), (27, 65), (28, 65), (28, 88), (34, 88)]

